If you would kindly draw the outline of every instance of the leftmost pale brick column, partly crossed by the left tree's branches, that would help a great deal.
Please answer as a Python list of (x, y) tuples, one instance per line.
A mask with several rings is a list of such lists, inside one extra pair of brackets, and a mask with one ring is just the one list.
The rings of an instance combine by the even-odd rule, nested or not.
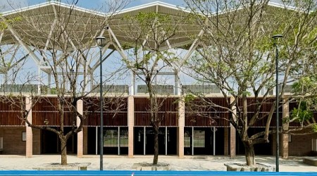
[[(25, 97), (25, 109), (30, 110), (27, 115), (27, 120), (32, 123), (32, 98), (30, 96)], [(25, 156), (27, 158), (31, 158), (33, 156), (33, 133), (32, 127), (29, 127), (27, 123), (25, 123), (26, 127), (26, 144), (25, 144)]]

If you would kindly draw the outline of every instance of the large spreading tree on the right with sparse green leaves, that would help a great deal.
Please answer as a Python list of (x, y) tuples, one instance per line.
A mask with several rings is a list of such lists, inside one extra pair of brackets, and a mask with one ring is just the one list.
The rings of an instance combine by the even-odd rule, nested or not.
[[(191, 75), (201, 81), (216, 84), (227, 101), (219, 106), (204, 99), (208, 106), (230, 112), (228, 120), (235, 126), (244, 144), (247, 165), (256, 165), (254, 144), (268, 143), (275, 102), (271, 110), (261, 114), (261, 107), (273, 99), (275, 87), (275, 55), (273, 34), (281, 33), (278, 70), (279, 96), (285, 100), (285, 87), (303, 75), (304, 54), (316, 52), (316, 9), (314, 1), (291, 1), (294, 7), (268, 5), (268, 1), (186, 1), (199, 21), (203, 33), (194, 56), (187, 61)], [(316, 36), (316, 35), (314, 35)], [(315, 45), (314, 45), (315, 44)], [(316, 63), (311, 63), (315, 65)], [(248, 103), (249, 95), (254, 101)], [(231, 98), (231, 99), (230, 99)], [(250, 111), (251, 106), (254, 110)], [(250, 127), (265, 120), (265, 129), (249, 134)]]

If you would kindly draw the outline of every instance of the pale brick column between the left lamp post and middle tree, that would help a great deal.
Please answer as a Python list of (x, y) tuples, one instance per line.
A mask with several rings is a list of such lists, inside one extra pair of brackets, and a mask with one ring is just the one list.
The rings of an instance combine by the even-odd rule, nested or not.
[(135, 99), (128, 96), (128, 157), (133, 158), (134, 146), (134, 126), (135, 126)]

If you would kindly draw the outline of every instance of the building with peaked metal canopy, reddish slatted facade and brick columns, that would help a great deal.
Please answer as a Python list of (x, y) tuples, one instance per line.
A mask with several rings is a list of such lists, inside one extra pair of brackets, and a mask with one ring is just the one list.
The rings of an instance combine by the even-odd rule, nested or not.
[[(57, 23), (56, 21), (61, 20), (59, 13), (68, 12), (70, 9), (74, 11), (69, 16), (70, 21), (73, 23), (73, 29), (77, 30), (80, 34), (80, 32), (84, 31), (82, 23), (91, 27), (89, 28), (90, 32), (82, 36), (81, 42), (72, 39), (72, 32), (65, 35), (70, 37), (68, 39), (69, 46), (66, 46), (73, 49), (70, 50), (70, 54), (72, 51), (80, 50), (87, 46), (94, 46), (94, 41), (92, 40), (96, 35), (102, 34), (110, 39), (108, 44), (102, 48), (102, 52), (108, 57), (112, 54), (106, 53), (108, 50), (116, 51), (123, 58), (125, 57), (124, 49), (128, 46), (123, 46), (122, 44), (130, 40), (128, 37), (122, 35), (123, 33), (120, 29), (120, 25), (123, 23), (122, 19), (126, 15), (135, 15), (139, 11), (143, 11), (183, 18), (188, 13), (185, 10), (181, 11), (175, 6), (155, 2), (114, 13), (111, 23), (100, 29), (107, 14), (50, 1), (45, 4), (22, 8), (19, 11), (4, 13), (1, 18), (3, 20), (5, 18), (13, 19), (21, 15), (25, 17), (23, 19), (27, 17), (27, 20), (37, 20), (42, 26), (37, 26), (37, 23), (35, 23), (33, 27), (43, 27), (44, 30), (48, 31), (47, 34), (50, 35), (53, 33), (51, 31), (55, 29), (54, 25)], [(43, 18), (39, 18), (43, 15), (43, 12), (45, 12), (44, 20)], [(75, 23), (78, 19), (82, 23)], [(47, 23), (47, 21), (49, 22)], [(1, 73), (6, 75), (14, 65), (23, 61), (25, 57), (30, 57), (37, 64), (39, 73), (51, 74), (51, 68), (45, 62), (47, 58), (42, 56), (40, 51), (42, 51), (41, 49), (49, 51), (54, 48), (54, 45), (41, 36), (39, 31), (33, 29), (32, 25), (25, 25), (24, 23), (25, 21), (23, 20), (16, 20), (12, 24), (7, 22), (8, 27), (1, 33), (3, 34), (1, 35), (1, 44), (13, 47), (18, 46), (26, 52), (25, 56), (22, 56), (12, 64), (2, 66)], [(189, 57), (194, 50), (196, 41), (192, 36), (199, 36), (201, 33), (199, 28), (194, 27), (193, 29), (193, 27), (192, 24), (188, 26), (185, 24), (185, 30), (175, 34), (175, 37), (170, 38), (160, 49), (164, 50), (176, 47), (186, 49), (187, 53), (185, 57)], [(67, 28), (66, 31), (68, 30), (70, 29)], [(25, 35), (25, 31), (34, 31), (35, 37)], [(98, 55), (94, 55), (93, 58), (98, 58)], [(92, 62), (91, 67), (88, 69), (89, 74), (93, 75), (98, 66), (98, 62)], [(80, 72), (84, 71), (76, 70), (75, 73), (80, 74)], [(63, 75), (63, 73), (58, 74)], [(242, 143), (236, 135), (235, 127), (230, 125), (227, 120), (223, 120), (223, 118), (228, 117), (228, 111), (218, 108), (207, 109), (206, 114), (211, 118), (201, 118), (199, 115), (187, 111), (187, 105), (183, 101), (178, 101), (178, 99), (182, 98), (182, 94), (187, 94), (188, 90), (208, 94), (209, 99), (213, 99), (214, 102), (217, 102), (221, 106), (225, 106), (225, 102), (230, 101), (230, 99), (226, 100), (223, 96), (220, 96), (219, 90), (214, 85), (184, 84), (181, 87), (177, 81), (178, 73), (175, 70), (173, 73), (165, 72), (162, 74), (175, 76), (175, 84), (157, 86), (162, 98), (168, 95), (168, 99), (163, 103), (163, 111), (160, 111), (165, 116), (159, 132), (160, 154), (178, 155), (180, 157), (185, 155), (230, 155), (234, 157), (236, 154), (244, 153)], [(27, 107), (31, 110), (27, 118), (32, 124), (58, 128), (58, 116), (60, 115), (56, 111), (58, 97), (54, 94), (54, 89), (47, 87), (47, 85), (51, 85), (50, 76), (47, 78), (48, 83), (46, 86), (41, 84), (44, 82), (43, 80), (37, 80), (39, 84), (26, 85), (8, 84), (8, 77), (4, 80), (1, 92), (23, 93), (25, 97), (23, 97), (22, 101), (25, 102), (26, 106), (32, 105), (32, 107)], [(91, 82), (90, 89), (93, 87), (94, 82)], [(151, 131), (149, 112), (147, 111), (147, 104), (149, 103), (146, 94), (147, 89), (144, 88), (144, 85), (135, 84), (135, 77), (132, 78), (130, 85), (113, 85), (112, 87), (104, 87), (104, 89), (108, 89), (108, 93), (121, 93), (123, 95), (120, 96), (120, 101), (123, 104), (120, 111), (106, 111), (104, 113), (104, 154), (128, 155), (129, 157), (152, 154), (154, 152), (152, 144), (153, 132)], [(97, 98), (99, 90), (94, 89), (94, 91), (83, 100), (78, 101), (76, 105), (78, 111), (87, 113), (89, 116), (84, 122), (85, 125), (82, 132), (79, 132), (68, 140), (68, 152), (77, 153), (77, 156), (99, 153), (100, 112), (96, 111), (97, 106), (88, 106), (89, 104), (87, 104), (87, 102), (99, 101)], [(27, 99), (27, 95), (30, 93), (36, 93), (42, 100), (32, 104), (30, 102), (32, 100)], [(111, 99), (111, 97), (107, 98)], [(21, 101), (18, 98), (15, 101)], [(273, 96), (269, 98), (273, 99)], [(254, 101), (253, 97), (250, 96), (248, 101), (250, 103)], [(92, 104), (97, 104), (96, 102)], [(272, 105), (273, 102), (267, 103), (266, 106), (263, 106), (261, 112), (267, 113)], [(282, 117), (287, 117), (290, 109), (294, 106), (294, 104), (285, 103), (281, 108), (282, 111), (280, 111), (282, 112)], [(9, 102), (0, 103), (0, 107), (0, 146), (2, 146), (1, 152), (3, 154), (25, 154), (27, 157), (31, 157), (33, 154), (60, 152), (60, 144), (56, 134), (44, 130), (31, 129), (28, 125), (25, 125), (25, 122), (18, 118), (21, 115), (20, 108), (11, 106)], [(252, 111), (252, 107), (250, 107), (249, 111)], [(69, 114), (70, 111), (66, 110), (65, 115), (66, 119), (68, 119), (65, 122), (66, 130), (67, 128), (70, 130), (73, 125)], [(113, 118), (113, 116), (116, 118)], [(274, 124), (271, 124), (271, 126), (274, 127)], [(259, 122), (252, 130), (253, 132), (258, 132), (263, 127), (264, 123)], [(269, 138), (271, 139), (270, 143), (256, 146), (257, 154), (275, 155), (275, 138), (273, 135)], [(316, 134), (300, 137), (281, 134), (280, 142), (282, 144), (282, 156), (309, 155), (311, 151), (316, 150)], [(315, 148), (312, 148), (313, 146)]]

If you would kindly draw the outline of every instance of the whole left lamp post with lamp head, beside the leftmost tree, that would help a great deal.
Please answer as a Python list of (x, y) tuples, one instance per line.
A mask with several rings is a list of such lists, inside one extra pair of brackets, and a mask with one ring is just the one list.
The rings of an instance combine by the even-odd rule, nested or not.
[(103, 115), (103, 107), (104, 107), (104, 99), (102, 96), (102, 47), (104, 47), (106, 38), (99, 36), (96, 38), (97, 45), (99, 46), (99, 64), (100, 64), (100, 141), (99, 141), (99, 146), (100, 146), (100, 170), (104, 170), (104, 115)]

